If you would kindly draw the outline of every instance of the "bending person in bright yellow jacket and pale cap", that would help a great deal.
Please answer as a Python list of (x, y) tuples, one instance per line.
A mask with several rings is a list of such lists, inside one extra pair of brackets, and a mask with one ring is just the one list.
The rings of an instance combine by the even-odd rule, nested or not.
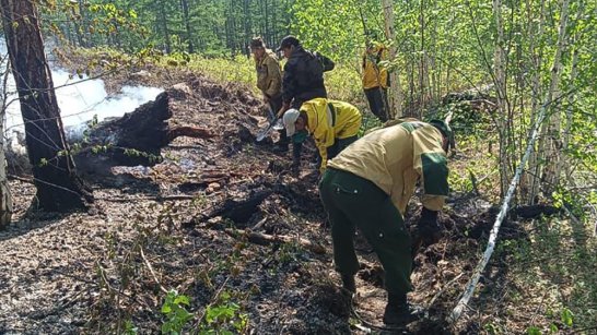
[(288, 136), (306, 131), (313, 135), (326, 169), (328, 159), (356, 141), (361, 129), (361, 111), (349, 103), (315, 98), (303, 103), (301, 109), (289, 109), (282, 118)]

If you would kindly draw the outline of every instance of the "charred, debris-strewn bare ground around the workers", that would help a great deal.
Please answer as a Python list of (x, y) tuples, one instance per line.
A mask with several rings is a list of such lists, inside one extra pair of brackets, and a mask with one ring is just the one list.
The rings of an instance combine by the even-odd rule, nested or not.
[[(242, 86), (184, 71), (137, 82), (156, 80), (190, 88), (172, 95), (172, 124), (207, 128), (216, 136), (176, 139), (159, 165), (117, 167), (112, 178), (90, 179), (96, 201), (85, 213), (26, 212), (35, 190), (11, 181), (17, 213), (0, 231), (0, 333), (159, 333), (171, 289), (189, 298), (186, 332), (246, 323), (254, 334), (391, 333), (382, 323), (383, 271), (359, 236), (362, 266), (353, 303), (339, 289), (309, 155), (295, 175), (290, 155), (272, 153), (272, 140), (255, 143), (265, 122), (260, 101)], [(110, 85), (128, 81), (113, 79)], [(410, 207), (409, 223), (418, 218), (417, 200)], [(410, 299), (429, 318), (406, 333), (480, 332), (475, 312), (457, 328), (440, 321), (477, 264), (495, 212), (472, 194), (448, 200), (443, 237), (421, 250), (412, 274)], [(502, 234), (525, 238), (515, 220)], [(481, 291), (505, 271), (499, 259), (492, 261)], [(230, 314), (207, 313), (219, 307)]]

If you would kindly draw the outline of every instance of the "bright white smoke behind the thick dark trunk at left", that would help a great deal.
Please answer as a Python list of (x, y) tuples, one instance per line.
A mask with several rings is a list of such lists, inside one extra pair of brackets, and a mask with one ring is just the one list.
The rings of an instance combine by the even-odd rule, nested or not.
[[(5, 45), (1, 43), (0, 52), (5, 55)], [(1, 72), (4, 72), (5, 65), (5, 63), (0, 64)], [(101, 79), (89, 80), (86, 76), (79, 79), (77, 75), (72, 79), (71, 74), (63, 69), (51, 69), (51, 75), (55, 87), (58, 87), (56, 98), (62, 123), (70, 139), (80, 137), (87, 128), (87, 122), (93, 118), (102, 121), (121, 117), (140, 105), (155, 99), (164, 91), (157, 87), (124, 86), (118, 94), (108, 96), (104, 81)], [(8, 143), (14, 143), (16, 137), (23, 137), (24, 125), (12, 75), (9, 76), (7, 91), (9, 93), (7, 104), (10, 105), (3, 120), (4, 137), (11, 139), (7, 141)]]

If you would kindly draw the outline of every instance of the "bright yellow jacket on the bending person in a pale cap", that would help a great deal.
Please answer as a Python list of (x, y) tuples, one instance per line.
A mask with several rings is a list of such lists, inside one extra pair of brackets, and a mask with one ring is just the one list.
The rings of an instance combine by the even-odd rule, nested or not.
[(327, 148), (333, 145), (336, 139), (347, 139), (359, 133), (361, 111), (349, 103), (325, 98), (303, 103), (301, 111), (307, 115), (307, 131), (315, 140), (321, 156), (321, 169), (325, 169)]

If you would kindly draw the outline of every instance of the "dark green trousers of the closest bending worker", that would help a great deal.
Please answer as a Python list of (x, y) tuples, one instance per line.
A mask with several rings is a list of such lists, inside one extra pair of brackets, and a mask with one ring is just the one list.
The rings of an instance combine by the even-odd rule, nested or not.
[(410, 291), (410, 235), (389, 195), (364, 178), (333, 168), (325, 171), (319, 194), (331, 222), (336, 271), (342, 275), (359, 271), (353, 244), (359, 227), (384, 266), (387, 291)]

